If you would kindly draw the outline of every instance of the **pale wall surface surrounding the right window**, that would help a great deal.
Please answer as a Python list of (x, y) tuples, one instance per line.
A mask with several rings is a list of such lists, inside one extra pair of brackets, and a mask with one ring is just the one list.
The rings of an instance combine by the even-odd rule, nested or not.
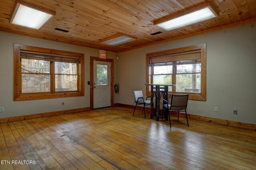
[(146, 53), (202, 43), (206, 43), (207, 100), (189, 101), (188, 113), (256, 124), (255, 22), (118, 53), (118, 103), (133, 104), (132, 90), (146, 94)]

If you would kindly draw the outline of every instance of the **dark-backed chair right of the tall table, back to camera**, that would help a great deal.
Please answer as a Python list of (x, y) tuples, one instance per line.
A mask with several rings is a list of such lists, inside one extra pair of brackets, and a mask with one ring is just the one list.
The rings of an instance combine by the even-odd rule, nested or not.
[[(166, 100), (164, 101), (167, 102)], [(172, 94), (171, 104), (168, 104), (168, 105), (164, 104), (163, 106), (162, 121), (163, 121), (164, 109), (168, 109), (169, 111), (178, 111), (178, 121), (179, 121), (180, 111), (185, 111), (187, 123), (188, 123), (188, 115), (186, 111), (187, 105), (188, 105), (188, 94)], [(170, 113), (168, 113), (168, 115), (169, 115), (170, 127), (172, 127), (171, 120), (170, 120)]]

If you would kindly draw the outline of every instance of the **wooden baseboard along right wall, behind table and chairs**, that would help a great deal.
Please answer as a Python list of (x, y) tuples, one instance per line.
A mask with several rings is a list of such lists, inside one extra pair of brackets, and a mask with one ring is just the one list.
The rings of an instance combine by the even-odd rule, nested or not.
[[(128, 108), (134, 108), (135, 106), (133, 105), (128, 105), (128, 104), (119, 104), (118, 106), (121, 107), (128, 107)], [(141, 106), (137, 106), (136, 109), (143, 109)], [(146, 107), (146, 111), (150, 111), (150, 108)], [(162, 109), (160, 109), (160, 112)], [(170, 112), (170, 115), (172, 116), (178, 116), (178, 112)], [(185, 113), (180, 113), (180, 117), (186, 117)], [(243, 123), (243, 122), (238, 122), (238, 121), (231, 121), (231, 120), (224, 120), (224, 119), (217, 119), (217, 118), (212, 118), (212, 117), (205, 117), (205, 116), (199, 116), (199, 115), (192, 115), (188, 114), (188, 119), (194, 119), (194, 120), (199, 120), (199, 121), (204, 121), (204, 122), (209, 122), (209, 123), (216, 123), (220, 125), (227, 125), (227, 126), (232, 126), (232, 127), (239, 127), (239, 128), (244, 128), (244, 129), (250, 129), (256, 131), (256, 125), (250, 124), (250, 123)]]

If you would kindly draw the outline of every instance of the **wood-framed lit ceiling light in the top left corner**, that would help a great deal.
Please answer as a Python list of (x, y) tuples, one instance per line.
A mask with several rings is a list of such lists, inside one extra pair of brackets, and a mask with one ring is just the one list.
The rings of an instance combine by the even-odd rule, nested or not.
[(53, 10), (23, 0), (17, 0), (10, 18), (10, 23), (40, 29), (55, 14), (56, 12)]

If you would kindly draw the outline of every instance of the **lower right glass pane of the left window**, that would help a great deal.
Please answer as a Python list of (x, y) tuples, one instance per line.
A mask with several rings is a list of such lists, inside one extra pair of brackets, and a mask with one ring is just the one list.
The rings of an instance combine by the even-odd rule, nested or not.
[(55, 75), (55, 91), (77, 91), (77, 76)]

